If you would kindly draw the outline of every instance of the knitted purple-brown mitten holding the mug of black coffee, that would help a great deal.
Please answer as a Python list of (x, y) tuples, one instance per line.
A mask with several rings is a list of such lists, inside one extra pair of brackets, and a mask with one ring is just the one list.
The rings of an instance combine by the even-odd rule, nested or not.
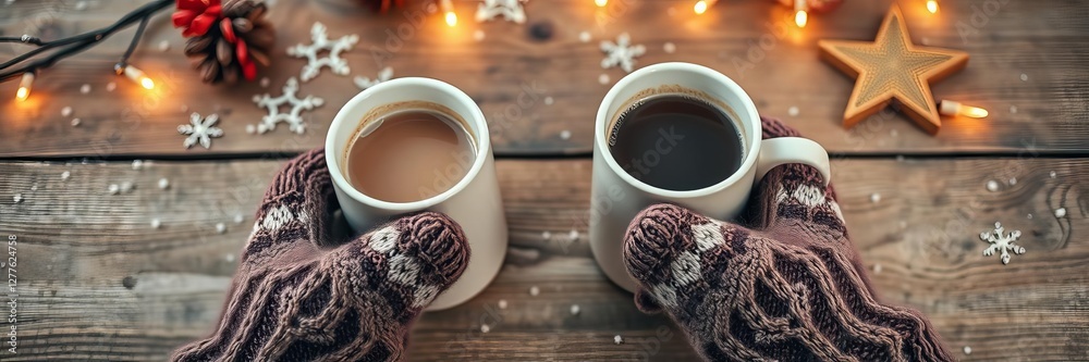
[(710, 361), (952, 360), (922, 314), (876, 299), (816, 170), (772, 170), (747, 219), (752, 228), (672, 204), (636, 216), (624, 259), (640, 309), (664, 310)]

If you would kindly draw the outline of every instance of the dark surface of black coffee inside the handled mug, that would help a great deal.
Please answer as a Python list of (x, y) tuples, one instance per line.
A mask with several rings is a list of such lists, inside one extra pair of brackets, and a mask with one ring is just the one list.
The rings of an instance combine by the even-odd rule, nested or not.
[(650, 97), (621, 113), (609, 151), (633, 177), (674, 191), (718, 184), (745, 159), (741, 133), (725, 112), (678, 95)]

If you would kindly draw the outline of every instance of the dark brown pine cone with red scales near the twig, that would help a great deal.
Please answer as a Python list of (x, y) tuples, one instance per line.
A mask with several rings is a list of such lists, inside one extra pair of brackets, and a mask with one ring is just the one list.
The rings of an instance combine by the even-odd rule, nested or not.
[(265, 20), (267, 8), (260, 0), (230, 0), (223, 16), (200, 36), (188, 39), (185, 55), (208, 84), (234, 84), (240, 76), (257, 78), (257, 63), (269, 65), (276, 30)]

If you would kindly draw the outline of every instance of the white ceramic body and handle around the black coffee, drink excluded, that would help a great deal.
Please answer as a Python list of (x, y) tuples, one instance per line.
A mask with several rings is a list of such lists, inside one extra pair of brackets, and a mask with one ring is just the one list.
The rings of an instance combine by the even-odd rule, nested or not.
[[(737, 172), (701, 189), (675, 191), (647, 185), (625, 172), (609, 151), (607, 138), (619, 112), (652, 95), (678, 92), (718, 105), (729, 113), (742, 136), (745, 159)], [(745, 207), (752, 184), (774, 166), (804, 163), (816, 167), (825, 184), (830, 177), (828, 152), (820, 145), (797, 137), (761, 139), (760, 115), (748, 95), (722, 73), (701, 65), (660, 63), (625, 76), (601, 101), (594, 127), (590, 250), (605, 275), (629, 291), (635, 291), (636, 284), (624, 267), (624, 234), (645, 208), (672, 202), (710, 217), (730, 220)], [(647, 166), (652, 167), (654, 160), (646, 160)]]

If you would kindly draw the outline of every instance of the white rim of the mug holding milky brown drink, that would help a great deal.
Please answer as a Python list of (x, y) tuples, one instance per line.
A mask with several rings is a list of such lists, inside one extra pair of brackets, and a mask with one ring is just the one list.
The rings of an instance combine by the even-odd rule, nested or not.
[[(339, 162), (342, 157), (340, 152), (341, 150), (335, 149), (337, 136), (341, 134), (339, 132), (340, 129), (348, 125), (353, 126), (353, 129), (351, 130), (353, 134), (359, 130), (360, 120), (353, 120), (352, 117), (350, 117), (350, 113), (353, 113), (355, 110), (360, 108), (362, 107), (360, 104), (366, 102), (372, 95), (384, 91), (393, 91), (397, 90), (399, 88), (408, 88), (408, 87), (432, 88), (435, 90), (438, 90), (440, 92), (453, 97), (458, 103), (462, 103), (460, 105), (468, 108), (469, 114), (458, 113), (457, 115), (464, 118), (466, 123), (469, 123), (468, 125), (466, 125), (470, 126), (468, 128), (473, 128), (472, 126), (475, 126), (477, 127), (477, 129), (479, 129), (478, 132), (474, 132), (473, 129), (465, 129), (465, 132), (472, 133), (470, 136), (473, 136), (473, 138), (477, 142), (476, 155), (475, 159), (473, 160), (473, 165), (465, 173), (465, 176), (463, 176), (460, 180), (457, 180), (457, 183), (455, 183), (445, 191), (439, 192), (438, 195), (427, 199), (416, 200), (411, 202), (392, 202), (392, 201), (379, 200), (359, 191), (354, 186), (352, 186), (351, 183), (347, 182), (347, 178), (341, 171)], [(403, 98), (403, 99), (383, 102), (382, 104), (376, 104), (375, 107), (395, 103), (400, 101), (418, 100), (414, 99), (411, 92), (406, 92), (404, 97), (397, 97), (397, 98)], [(453, 111), (453, 107), (450, 107), (450, 104), (442, 104), (442, 105), (445, 105), (446, 108), (450, 108), (451, 111)], [(367, 110), (364, 110), (363, 114), (366, 114), (366, 112)], [(354, 135), (348, 137), (354, 137)], [(348, 139), (348, 141), (351, 141), (351, 139)], [(348, 146), (346, 145), (345, 147)], [(477, 175), (480, 173), (480, 170), (484, 168), (485, 161), (487, 160), (488, 154), (490, 152), (491, 152), (491, 136), (490, 132), (488, 130), (488, 121), (485, 118), (484, 112), (480, 110), (480, 107), (477, 105), (477, 103), (473, 101), (473, 99), (469, 98), (468, 95), (466, 95), (457, 87), (454, 87), (453, 85), (450, 85), (449, 83), (439, 79), (425, 78), (425, 77), (394, 78), (379, 83), (378, 85), (375, 85), (370, 88), (364, 89), (363, 91), (353, 96), (352, 99), (350, 99), (347, 102), (345, 102), (344, 105), (341, 107), (340, 111), (337, 111), (337, 115), (333, 117), (333, 122), (329, 125), (329, 130), (326, 133), (326, 150), (325, 150), (326, 166), (329, 168), (329, 174), (330, 177), (332, 177), (333, 179), (333, 184), (337, 185), (337, 187), (342, 192), (346, 194), (348, 197), (358, 202), (362, 202), (364, 204), (377, 209), (389, 210), (394, 212), (412, 212), (412, 211), (432, 208), (439, 203), (446, 201), (454, 195), (461, 192), (466, 187), (468, 187), (468, 185), (473, 182), (473, 179), (475, 179)]]

